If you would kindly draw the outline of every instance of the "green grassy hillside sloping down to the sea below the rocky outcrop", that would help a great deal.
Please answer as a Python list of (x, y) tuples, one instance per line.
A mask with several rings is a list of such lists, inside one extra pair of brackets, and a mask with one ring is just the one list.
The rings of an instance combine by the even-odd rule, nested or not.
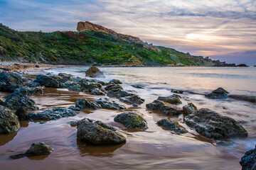
[(140, 39), (122, 39), (122, 36), (119, 38), (102, 30), (21, 32), (2, 24), (0, 59), (47, 64), (225, 65), (225, 62), (213, 61), (208, 57), (148, 45)]

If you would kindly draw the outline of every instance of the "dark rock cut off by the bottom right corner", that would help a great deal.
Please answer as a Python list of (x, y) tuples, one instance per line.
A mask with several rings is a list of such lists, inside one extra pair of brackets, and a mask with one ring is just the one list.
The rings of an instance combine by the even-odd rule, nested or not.
[(256, 148), (247, 151), (239, 163), (242, 170), (256, 170)]

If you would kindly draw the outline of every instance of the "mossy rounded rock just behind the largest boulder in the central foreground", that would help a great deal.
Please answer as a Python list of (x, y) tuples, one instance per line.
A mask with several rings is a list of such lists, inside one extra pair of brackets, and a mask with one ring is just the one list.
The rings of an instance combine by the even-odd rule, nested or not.
[(122, 123), (126, 128), (129, 129), (143, 129), (146, 130), (147, 123), (141, 115), (134, 112), (124, 112), (118, 114), (114, 118), (115, 122)]

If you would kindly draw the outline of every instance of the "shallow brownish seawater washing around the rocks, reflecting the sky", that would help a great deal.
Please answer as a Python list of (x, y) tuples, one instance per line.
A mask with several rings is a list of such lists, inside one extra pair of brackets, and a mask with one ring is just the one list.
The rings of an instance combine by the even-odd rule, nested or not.
[[(23, 121), (18, 132), (11, 135), (0, 135), (0, 169), (241, 169), (239, 164), (240, 158), (245, 154), (247, 149), (253, 148), (256, 143), (256, 107), (254, 104), (245, 101), (235, 101), (230, 98), (223, 101), (210, 100), (200, 94), (185, 93), (182, 95), (185, 97), (185, 99), (182, 99), (182, 106), (186, 103), (193, 102), (198, 108), (210, 108), (213, 111), (235, 118), (249, 132), (247, 139), (233, 140), (234, 144), (228, 147), (217, 146), (213, 140), (202, 137), (193, 129), (188, 128), (183, 123), (182, 115), (166, 116), (157, 111), (146, 110), (145, 105), (154, 101), (157, 96), (170, 95), (171, 92), (169, 89), (176, 88), (176, 86), (179, 86), (178, 89), (203, 94), (208, 89), (215, 89), (213, 84), (217, 84), (218, 82), (220, 83), (219, 86), (228, 84), (226, 82), (227, 80), (222, 79), (222, 81), (218, 81), (218, 78), (210, 78), (214, 81), (211, 83), (208, 77), (206, 77), (206, 82), (203, 83), (201, 78), (188, 77), (189, 80), (185, 81), (185, 78), (182, 78), (180, 74), (176, 74), (174, 70), (166, 73), (161, 68), (134, 69), (103, 68), (102, 70), (107, 75), (107, 79), (113, 77), (121, 79), (124, 81), (124, 89), (135, 90), (139, 96), (146, 99), (144, 104), (139, 108), (130, 107), (128, 110), (142, 113), (148, 123), (149, 129), (145, 131), (128, 130), (123, 125), (114, 123), (114, 116), (122, 113), (122, 111), (107, 109), (96, 111), (87, 109), (74, 117), (46, 122), (28, 123), (27, 121)], [(157, 72), (159, 74), (159, 77), (157, 77), (157, 74), (149, 72), (149, 69), (164, 72), (163, 74), (168, 74), (169, 77), (164, 78), (159, 72)], [(77, 72), (71, 72), (70, 70), (67, 72), (71, 74), (77, 73), (80, 76), (79, 74), (82, 71), (75, 68), (74, 70), (77, 70)], [(143, 73), (147, 72), (149, 74), (147, 78), (144, 77), (142, 71)], [(63, 69), (51, 70), (50, 72), (63, 72)], [(185, 69), (183, 72), (188, 71)], [(174, 73), (176, 74), (176, 80), (180, 77), (176, 86), (173, 85), (175, 84), (173, 82), (174, 78), (170, 78), (174, 77)], [(191, 84), (193, 83), (191, 82), (193, 81), (191, 79), (196, 79), (194, 84), (200, 84), (202, 89), (192, 86)], [(189, 88), (186, 89), (185, 85), (182, 86), (182, 81)], [(234, 91), (234, 93), (237, 92), (238, 94), (239, 91), (242, 91), (242, 93), (249, 91), (247, 92), (249, 94), (255, 93), (255, 86), (246, 87), (248, 84), (245, 81), (250, 82), (250, 79), (229, 79), (229, 81), (230, 84), (228, 84), (228, 87), (223, 86), (228, 91)], [(237, 86), (235, 84), (236, 81), (244, 81), (245, 86), (240, 86), (240, 89), (231, 88), (232, 86)], [(252, 79), (251, 85), (254, 82)], [(141, 84), (145, 86), (145, 89), (134, 89), (130, 84)], [(203, 84), (208, 84), (208, 86), (204, 87)], [(239, 84), (242, 84), (242, 82)], [(0, 93), (0, 96), (7, 95)], [(100, 96), (92, 96), (84, 92), (68, 91), (67, 89), (45, 89), (43, 95), (31, 96), (31, 98), (36, 101), (37, 106), (43, 111), (48, 108), (68, 108), (69, 106), (74, 106), (78, 98), (88, 98), (94, 101), (100, 98)], [(72, 120), (80, 120), (82, 118), (102, 120), (105, 123), (113, 125), (127, 137), (127, 142), (121, 145), (97, 146), (85, 145), (77, 141), (77, 129), (70, 127), (69, 123)], [(157, 126), (156, 121), (161, 118), (178, 120), (189, 133), (176, 135), (170, 130)], [(23, 157), (15, 160), (9, 159), (12, 154), (25, 152), (33, 142), (45, 142), (50, 147), (53, 147), (54, 151), (47, 156)]]

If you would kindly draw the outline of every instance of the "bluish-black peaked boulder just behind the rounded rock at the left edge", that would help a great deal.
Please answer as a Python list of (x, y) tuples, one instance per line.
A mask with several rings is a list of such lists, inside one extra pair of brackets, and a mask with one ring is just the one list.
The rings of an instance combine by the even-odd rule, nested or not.
[(21, 107), (26, 110), (37, 110), (36, 103), (31, 98), (28, 98), (27, 94), (26, 88), (16, 89), (14, 93), (7, 96), (4, 106), (11, 110), (17, 110)]

